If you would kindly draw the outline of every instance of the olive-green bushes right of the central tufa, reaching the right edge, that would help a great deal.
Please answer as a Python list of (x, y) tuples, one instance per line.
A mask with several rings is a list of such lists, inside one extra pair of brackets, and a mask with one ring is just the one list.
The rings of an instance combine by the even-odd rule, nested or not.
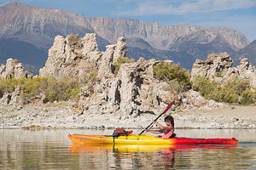
[[(213, 99), (217, 102), (251, 105), (256, 101), (256, 93), (250, 87), (249, 81), (237, 77), (223, 84), (205, 77), (196, 77), (191, 82), (189, 71), (182, 69), (179, 64), (172, 65), (165, 61), (154, 65), (154, 76), (158, 80), (169, 82), (177, 93), (193, 88), (205, 99)], [(221, 73), (218, 73), (217, 77), (221, 77)]]

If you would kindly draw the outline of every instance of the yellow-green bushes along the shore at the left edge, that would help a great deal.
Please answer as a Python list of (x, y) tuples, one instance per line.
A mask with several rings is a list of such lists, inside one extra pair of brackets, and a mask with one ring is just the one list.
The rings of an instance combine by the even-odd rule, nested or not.
[(82, 84), (73, 77), (66, 77), (56, 80), (54, 77), (30, 77), (15, 79), (8, 77), (0, 79), (0, 97), (4, 93), (12, 93), (15, 86), (20, 86), (25, 99), (29, 100), (40, 94), (46, 95), (49, 102), (67, 101), (68, 99), (78, 99)]

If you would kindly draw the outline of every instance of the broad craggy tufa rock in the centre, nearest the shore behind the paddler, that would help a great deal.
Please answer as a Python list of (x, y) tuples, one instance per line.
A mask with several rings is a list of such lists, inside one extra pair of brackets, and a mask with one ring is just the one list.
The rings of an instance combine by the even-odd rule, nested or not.
[(141, 58), (136, 63), (121, 65), (112, 78), (93, 79), (81, 89), (79, 103), (83, 113), (114, 113), (125, 119), (163, 110), (178, 96), (167, 82), (154, 78), (153, 66), (157, 63)]

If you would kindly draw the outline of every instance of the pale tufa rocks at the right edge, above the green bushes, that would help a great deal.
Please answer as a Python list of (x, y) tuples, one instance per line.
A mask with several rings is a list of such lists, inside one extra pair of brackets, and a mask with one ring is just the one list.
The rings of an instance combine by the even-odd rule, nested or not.
[(251, 65), (247, 58), (241, 59), (240, 65), (237, 65), (237, 67), (231, 67), (233, 63), (229, 54), (209, 54), (206, 61), (196, 59), (192, 67), (191, 79), (201, 76), (221, 83), (233, 77), (238, 77), (248, 80), (251, 87), (256, 88), (255, 66)]

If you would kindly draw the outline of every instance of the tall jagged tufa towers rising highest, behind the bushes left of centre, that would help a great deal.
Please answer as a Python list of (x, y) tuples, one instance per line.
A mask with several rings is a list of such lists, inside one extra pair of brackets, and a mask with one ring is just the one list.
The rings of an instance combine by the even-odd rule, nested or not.
[(66, 38), (57, 36), (51, 48), (44, 68), (40, 69), (40, 77), (55, 78), (78, 77), (86, 82), (90, 73), (98, 72), (99, 77), (108, 77), (112, 72), (114, 59), (125, 56), (125, 37), (120, 37), (117, 44), (106, 47), (100, 52), (96, 43), (96, 34), (69, 35)]

